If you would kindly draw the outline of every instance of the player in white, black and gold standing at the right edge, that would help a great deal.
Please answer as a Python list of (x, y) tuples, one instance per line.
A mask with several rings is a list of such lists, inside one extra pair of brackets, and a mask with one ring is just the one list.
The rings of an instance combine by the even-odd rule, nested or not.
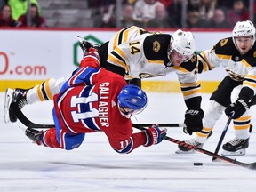
[[(211, 135), (214, 124), (225, 111), (227, 116), (234, 119), (236, 137), (222, 146), (222, 155), (244, 155), (252, 131), (249, 101), (256, 91), (256, 44), (252, 22), (237, 22), (232, 37), (221, 39), (211, 50), (201, 52), (198, 61), (199, 73), (223, 67), (228, 76), (220, 82), (204, 109), (203, 130), (185, 142), (202, 147)], [(177, 153), (192, 152), (188, 148), (179, 148)]]

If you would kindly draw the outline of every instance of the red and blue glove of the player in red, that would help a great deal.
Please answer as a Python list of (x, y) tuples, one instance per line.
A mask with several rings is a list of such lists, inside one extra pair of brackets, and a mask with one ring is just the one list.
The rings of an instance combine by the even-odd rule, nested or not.
[(146, 143), (144, 144), (144, 147), (149, 147), (162, 142), (166, 135), (167, 129), (162, 129), (158, 126), (158, 124), (155, 124), (143, 132), (145, 132), (146, 135)]

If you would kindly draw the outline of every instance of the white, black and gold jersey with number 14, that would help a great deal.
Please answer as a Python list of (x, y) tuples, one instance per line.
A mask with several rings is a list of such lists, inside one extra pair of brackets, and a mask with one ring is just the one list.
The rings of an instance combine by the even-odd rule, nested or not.
[(108, 63), (125, 69), (125, 79), (178, 75), (184, 98), (201, 96), (197, 81), (196, 52), (191, 60), (175, 67), (167, 57), (171, 35), (132, 26), (116, 33), (108, 44)]

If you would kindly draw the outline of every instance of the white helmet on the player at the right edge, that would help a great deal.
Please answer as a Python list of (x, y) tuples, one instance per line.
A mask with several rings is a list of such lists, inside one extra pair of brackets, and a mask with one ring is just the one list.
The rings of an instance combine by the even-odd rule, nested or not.
[(252, 45), (254, 44), (254, 42), (255, 42), (255, 27), (254, 27), (252, 21), (246, 20), (246, 21), (236, 22), (236, 25), (232, 31), (232, 38), (233, 38), (233, 42), (235, 45), (236, 45), (235, 37), (240, 37), (240, 36), (252, 36), (253, 37)]

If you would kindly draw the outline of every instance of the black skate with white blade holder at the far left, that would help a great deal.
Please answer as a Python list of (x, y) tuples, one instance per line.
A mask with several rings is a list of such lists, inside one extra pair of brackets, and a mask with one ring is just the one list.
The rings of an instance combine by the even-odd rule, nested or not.
[(28, 90), (25, 89), (15, 89), (14, 91), (12, 89), (6, 90), (4, 100), (5, 123), (9, 123), (10, 121), (14, 123), (17, 121), (17, 117), (12, 112), (10, 105), (12, 102), (16, 102), (20, 109), (23, 108), (26, 104), (28, 104), (28, 101), (26, 100), (27, 92)]

